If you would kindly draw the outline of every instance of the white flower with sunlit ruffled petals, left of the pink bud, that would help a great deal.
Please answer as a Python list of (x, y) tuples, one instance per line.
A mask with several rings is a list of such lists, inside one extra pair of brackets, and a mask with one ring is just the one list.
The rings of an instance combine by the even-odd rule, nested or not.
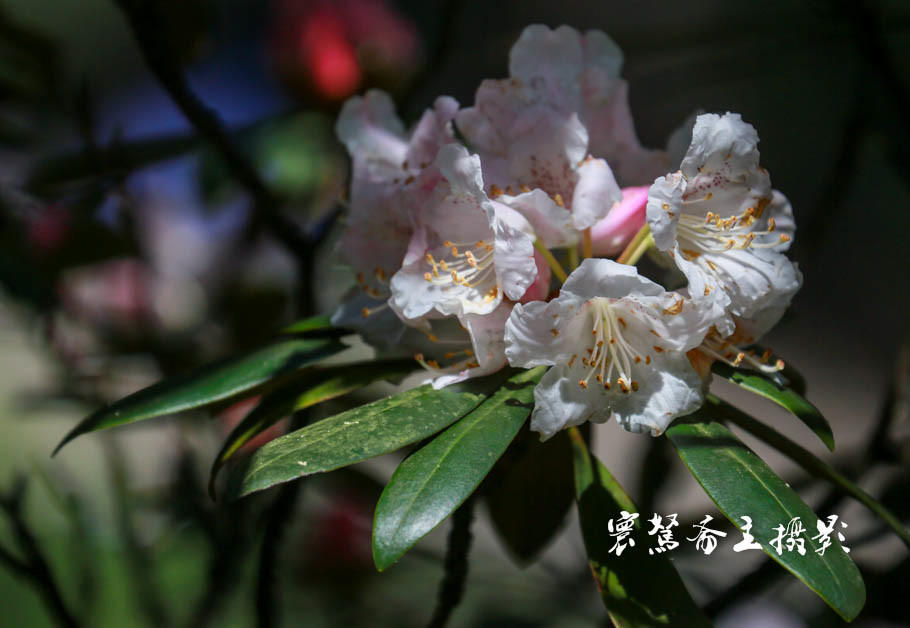
[(489, 314), (503, 296), (519, 300), (537, 276), (531, 227), (484, 193), (480, 158), (450, 144), (436, 166), (444, 181), (416, 213), (417, 231), (391, 282), (390, 305), (406, 321)]

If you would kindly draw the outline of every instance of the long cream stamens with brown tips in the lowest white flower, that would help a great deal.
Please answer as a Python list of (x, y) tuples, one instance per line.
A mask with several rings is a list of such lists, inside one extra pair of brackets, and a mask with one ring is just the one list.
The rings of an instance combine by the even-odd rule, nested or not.
[[(591, 299), (588, 303), (593, 317), (592, 340), (590, 348), (586, 350), (588, 355), (581, 358), (582, 364), (588, 367), (588, 373), (583, 379), (578, 380), (578, 385), (587, 388), (593, 376), (605, 390), (610, 390), (611, 382), (615, 382), (624, 393), (637, 391), (639, 384), (632, 379), (632, 366), (643, 359), (645, 364), (650, 364), (651, 356), (645, 355), (642, 358), (625, 339), (623, 332), (627, 328), (627, 323), (614, 311), (609, 299), (599, 297)], [(572, 366), (577, 357), (572, 356), (569, 366)]]

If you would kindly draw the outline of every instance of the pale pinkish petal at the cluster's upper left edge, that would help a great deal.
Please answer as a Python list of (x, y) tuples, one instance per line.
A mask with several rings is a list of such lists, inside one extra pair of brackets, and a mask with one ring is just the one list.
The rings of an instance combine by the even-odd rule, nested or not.
[(353, 159), (355, 177), (390, 180), (401, 172), (408, 150), (406, 133), (385, 92), (374, 89), (349, 98), (335, 133)]

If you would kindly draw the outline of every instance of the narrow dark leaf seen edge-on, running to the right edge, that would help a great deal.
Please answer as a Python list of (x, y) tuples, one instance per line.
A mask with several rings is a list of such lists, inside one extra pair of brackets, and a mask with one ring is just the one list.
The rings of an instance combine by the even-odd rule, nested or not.
[(841, 475), (831, 465), (825, 463), (804, 447), (794, 443), (774, 428), (771, 428), (760, 421), (756, 421), (742, 410), (713, 396), (708, 397), (708, 402), (716, 407), (718, 412), (731, 423), (738, 425), (753, 436), (765, 441), (813, 476), (831, 482), (844, 493), (868, 508), (875, 515), (880, 517), (882, 521), (900, 537), (904, 542), (904, 545), (910, 548), (910, 533), (907, 532), (907, 529), (901, 524), (900, 520), (890, 512), (884, 504)]

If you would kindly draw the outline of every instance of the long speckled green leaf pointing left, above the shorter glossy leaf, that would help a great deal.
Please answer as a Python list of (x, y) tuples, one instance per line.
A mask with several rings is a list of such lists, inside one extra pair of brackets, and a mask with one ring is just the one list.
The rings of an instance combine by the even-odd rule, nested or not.
[(231, 469), (228, 496), (243, 497), (432, 436), (476, 408), (502, 378), (497, 374), (441, 390), (413, 388), (285, 434)]

